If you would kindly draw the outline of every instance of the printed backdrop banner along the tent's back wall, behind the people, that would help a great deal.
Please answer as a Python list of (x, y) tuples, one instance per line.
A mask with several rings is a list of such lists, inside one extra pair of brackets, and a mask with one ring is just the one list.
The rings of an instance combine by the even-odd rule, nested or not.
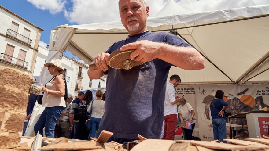
[[(269, 105), (269, 85), (214, 85), (214, 86), (178, 86), (175, 94), (184, 94), (185, 99), (191, 104), (197, 119), (193, 136), (199, 137), (204, 141), (212, 141), (213, 125), (211, 122), (210, 103), (215, 98), (217, 90), (222, 90), (227, 96), (224, 99), (228, 103), (226, 112), (232, 115), (239, 112), (258, 110)], [(246, 120), (242, 121), (247, 125)], [(230, 125), (227, 126), (227, 138), (230, 137)], [(231, 126), (241, 126), (241, 120), (234, 118)], [(268, 125), (267, 125), (268, 126)], [(268, 129), (267, 129), (268, 130)]]

